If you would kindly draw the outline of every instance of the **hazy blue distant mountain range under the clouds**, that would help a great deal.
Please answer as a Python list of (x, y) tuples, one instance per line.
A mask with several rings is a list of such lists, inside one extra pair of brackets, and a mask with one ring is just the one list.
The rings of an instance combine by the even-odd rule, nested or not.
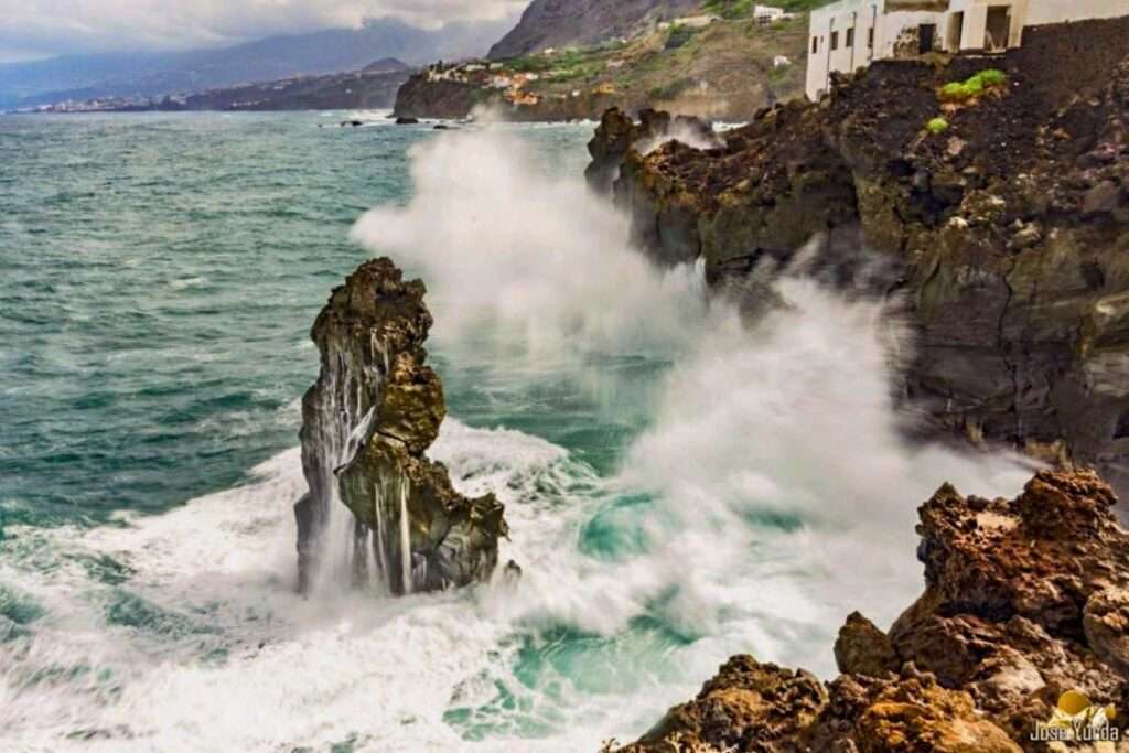
[(0, 64), (0, 107), (95, 97), (152, 97), (294, 76), (357, 70), (379, 58), (411, 64), (481, 55), (513, 21), (438, 30), (394, 19), (359, 29), (279, 36), (220, 50), (68, 55)]

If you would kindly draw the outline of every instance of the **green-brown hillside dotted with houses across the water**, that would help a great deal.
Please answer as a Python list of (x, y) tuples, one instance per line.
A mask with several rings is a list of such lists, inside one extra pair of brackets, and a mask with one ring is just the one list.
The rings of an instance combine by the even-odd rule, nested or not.
[[(560, 10), (571, 1), (557, 0), (553, 7)], [(809, 2), (762, 0), (782, 9)], [(690, 9), (709, 16), (701, 24), (651, 18), (627, 38), (432, 65), (400, 90), (396, 114), (463, 117), (487, 106), (511, 120), (560, 121), (599, 117), (616, 106), (747, 120), (767, 105), (802, 95), (808, 24), (806, 12), (761, 24), (753, 5), (711, 0)], [(539, 7), (548, 9), (548, 3)]]

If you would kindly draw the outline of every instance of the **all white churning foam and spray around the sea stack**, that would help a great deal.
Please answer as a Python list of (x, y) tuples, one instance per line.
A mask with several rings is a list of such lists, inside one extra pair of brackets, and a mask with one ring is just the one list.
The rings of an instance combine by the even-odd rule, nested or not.
[[(356, 230), (423, 274), (448, 386), (474, 365), (482, 394), (456, 415), (593, 406), (584, 446), (449, 419), (431, 450), (507, 505), (520, 581), (303, 601), (297, 450), (160, 516), (9, 528), (0, 583), (42, 611), (0, 624), (16, 750), (594, 751), (733, 653), (830, 674), (849, 611), (889, 622), (920, 590), (913, 508), (946, 480), (1024, 480), (904, 444), (881, 305), (789, 279), (790, 305), (749, 330), (535, 161), (497, 132), (444, 135), (413, 155), (414, 199)], [(621, 429), (618, 462), (588, 462)]]

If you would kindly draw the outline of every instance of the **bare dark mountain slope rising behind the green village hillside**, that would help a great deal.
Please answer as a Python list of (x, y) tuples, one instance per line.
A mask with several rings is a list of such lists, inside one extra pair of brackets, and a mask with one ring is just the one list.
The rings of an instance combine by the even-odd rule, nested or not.
[(647, 23), (694, 11), (701, 0), (533, 0), (491, 60), (632, 36)]

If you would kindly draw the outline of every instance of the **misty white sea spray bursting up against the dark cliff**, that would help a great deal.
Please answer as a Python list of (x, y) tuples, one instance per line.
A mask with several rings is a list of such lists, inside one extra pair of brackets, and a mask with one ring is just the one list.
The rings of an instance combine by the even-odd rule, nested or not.
[[(992, 494), (1030, 473), (907, 439), (892, 369), (913, 343), (886, 301), (785, 277), (782, 305), (751, 324), (694, 270), (650, 265), (624, 218), (504, 133), (445, 135), (413, 157), (413, 201), (374, 210), (355, 237), (423, 273), (448, 358), (492, 327), (509, 338), (492, 354), (500, 370), (568, 361), (564, 378), (586, 385), (609, 356), (675, 365), (612, 480), (650, 501), (601, 515), (634, 549), (593, 558), (581, 539), (567, 564), (534, 557), (527, 614), (604, 636), (648, 615), (828, 674), (842, 616), (866, 606), (889, 622), (918, 589), (918, 502), (946, 480)], [(603, 392), (616, 376), (599, 378)], [(703, 656), (701, 676), (721, 658)]]

